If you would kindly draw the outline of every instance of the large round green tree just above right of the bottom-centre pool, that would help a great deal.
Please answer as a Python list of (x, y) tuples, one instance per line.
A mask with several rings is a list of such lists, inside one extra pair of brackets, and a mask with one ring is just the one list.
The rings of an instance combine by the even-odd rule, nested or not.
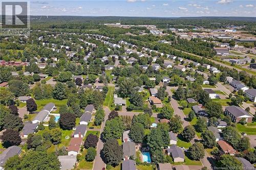
[(162, 147), (169, 145), (169, 134), (164, 128), (153, 128), (150, 134), (147, 135), (147, 145), (152, 150), (161, 150)]

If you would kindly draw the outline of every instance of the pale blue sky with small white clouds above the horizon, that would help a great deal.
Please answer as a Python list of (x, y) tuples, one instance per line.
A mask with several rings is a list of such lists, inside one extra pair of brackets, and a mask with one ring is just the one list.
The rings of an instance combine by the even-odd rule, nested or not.
[(31, 15), (76, 16), (256, 16), (256, 1), (116, 0), (31, 1)]

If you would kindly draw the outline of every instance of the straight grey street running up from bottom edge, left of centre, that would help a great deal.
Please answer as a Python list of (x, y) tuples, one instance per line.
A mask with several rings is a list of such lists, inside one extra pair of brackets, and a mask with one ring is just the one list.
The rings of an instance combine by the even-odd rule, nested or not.
[[(101, 128), (100, 128), (100, 135), (105, 127), (106, 120), (108, 119), (109, 114), (110, 114), (110, 109), (108, 107), (104, 107), (104, 111), (105, 111), (105, 118), (104, 118), (104, 122), (102, 123)], [(102, 150), (102, 149), (103, 149), (103, 141), (101, 140), (101, 138), (99, 138), (99, 141), (97, 144), (97, 155), (93, 162), (93, 170), (101, 170), (102, 167), (105, 167), (105, 163), (103, 162), (103, 160), (100, 157), (100, 150)]]

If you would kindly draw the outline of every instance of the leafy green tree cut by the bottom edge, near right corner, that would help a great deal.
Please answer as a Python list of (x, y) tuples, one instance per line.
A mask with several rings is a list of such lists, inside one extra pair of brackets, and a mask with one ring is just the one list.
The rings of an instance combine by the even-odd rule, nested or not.
[(221, 155), (218, 166), (223, 169), (243, 169), (242, 163), (231, 155)]

